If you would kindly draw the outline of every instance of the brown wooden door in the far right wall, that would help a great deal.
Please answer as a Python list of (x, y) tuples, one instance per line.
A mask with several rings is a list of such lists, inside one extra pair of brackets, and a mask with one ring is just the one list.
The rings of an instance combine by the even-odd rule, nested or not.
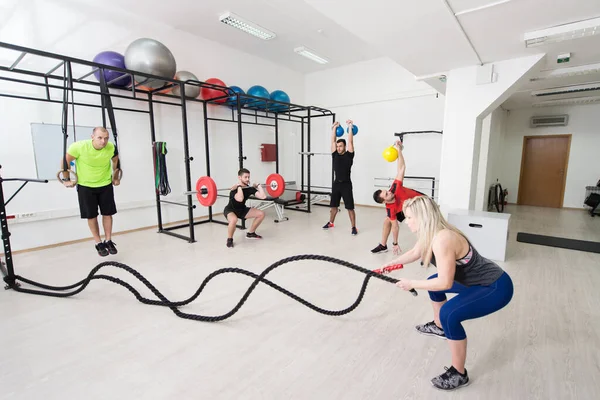
[(561, 208), (571, 135), (525, 136), (517, 203)]

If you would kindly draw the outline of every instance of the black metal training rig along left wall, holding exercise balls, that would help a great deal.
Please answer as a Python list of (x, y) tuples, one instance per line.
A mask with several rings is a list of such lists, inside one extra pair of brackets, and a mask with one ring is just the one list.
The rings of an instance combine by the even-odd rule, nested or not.
[[(43, 87), (45, 89), (44, 97), (35, 96), (35, 95), (15, 95), (15, 94), (10, 94), (10, 93), (0, 93), (0, 97), (43, 101), (43, 102), (49, 102), (49, 103), (59, 103), (59, 104), (63, 104), (63, 106), (84, 106), (84, 107), (101, 108), (104, 124), (106, 124), (105, 112), (107, 111), (106, 110), (107, 107), (111, 107), (112, 110), (118, 110), (118, 111), (145, 113), (145, 114), (148, 114), (149, 119), (150, 119), (150, 136), (151, 136), (152, 144), (154, 144), (156, 142), (154, 105), (155, 104), (165, 104), (165, 105), (180, 107), (181, 118), (182, 118), (182, 122), (183, 122), (183, 132), (182, 133), (183, 133), (183, 144), (184, 144), (184, 162), (185, 162), (186, 191), (187, 192), (192, 191), (190, 163), (191, 163), (191, 161), (194, 160), (194, 158), (192, 156), (190, 156), (189, 141), (188, 141), (187, 106), (190, 103), (201, 103), (202, 107), (203, 107), (204, 138), (205, 138), (205, 148), (206, 148), (206, 155), (205, 155), (206, 156), (206, 175), (207, 176), (210, 176), (208, 121), (223, 121), (223, 122), (237, 123), (240, 168), (243, 168), (244, 160), (246, 159), (246, 157), (244, 157), (244, 153), (243, 153), (243, 129), (242, 129), (243, 125), (244, 124), (252, 124), (252, 125), (264, 125), (264, 126), (274, 127), (275, 128), (275, 145), (276, 145), (276, 153), (277, 153), (275, 169), (276, 169), (276, 172), (278, 173), (279, 172), (279, 121), (290, 121), (290, 122), (297, 122), (297, 123), (301, 124), (301, 126), (302, 126), (302, 129), (301, 129), (302, 151), (304, 151), (304, 143), (305, 143), (304, 130), (305, 130), (305, 126), (306, 126), (307, 131), (308, 131), (307, 151), (310, 151), (310, 148), (311, 148), (310, 132), (311, 132), (312, 118), (331, 116), (332, 119), (335, 120), (335, 114), (333, 112), (331, 112), (330, 110), (326, 110), (324, 108), (313, 107), (313, 106), (301, 106), (301, 105), (292, 104), (292, 103), (283, 103), (283, 102), (273, 101), (270, 99), (263, 99), (263, 98), (259, 98), (259, 97), (255, 97), (255, 96), (250, 96), (247, 94), (244, 94), (244, 95), (236, 94), (235, 97), (233, 97), (232, 96), (233, 93), (227, 87), (223, 87), (223, 86), (219, 86), (219, 85), (215, 85), (215, 84), (211, 84), (211, 83), (206, 83), (206, 82), (202, 82), (202, 81), (197, 81), (197, 80), (180, 81), (180, 80), (171, 79), (171, 78), (164, 78), (164, 77), (160, 77), (160, 76), (156, 76), (156, 75), (140, 73), (138, 71), (132, 71), (132, 70), (123, 69), (123, 68), (111, 67), (111, 66), (98, 64), (98, 63), (87, 61), (87, 60), (77, 59), (77, 58), (73, 58), (73, 57), (69, 57), (69, 56), (64, 56), (64, 55), (60, 55), (60, 54), (50, 53), (50, 52), (46, 52), (46, 51), (27, 48), (27, 47), (23, 47), (23, 46), (17, 46), (17, 45), (3, 43), (3, 42), (0, 42), (0, 48), (5, 48), (5, 49), (13, 50), (13, 51), (20, 53), (18, 55), (17, 59), (10, 66), (0, 65), (0, 72), (17, 74), (19, 76), (19, 78), (14, 78), (14, 77), (10, 77), (10, 76), (0, 76), (0, 80), (20, 83), (20, 84), (26, 84), (26, 85), (31, 85), (31, 86), (37, 86), (37, 87)], [(27, 55), (35, 56), (35, 57), (42, 57), (45, 59), (54, 59), (57, 61), (58, 64), (54, 68), (50, 69), (49, 71), (47, 71), (45, 73), (38, 72), (35, 70), (26, 70), (26, 69), (17, 68), (19, 63), (22, 61), (22, 59)], [(73, 65), (89, 67), (89, 68), (91, 68), (91, 71), (80, 76), (79, 78), (74, 78), (70, 74), (69, 74), (69, 76), (61, 76), (61, 75), (54, 74), (54, 72), (56, 70), (58, 70), (59, 68), (61, 68), (63, 66), (66, 66), (69, 68), (69, 70), (71, 70)], [(132, 82), (131, 87), (122, 88), (119, 86), (115, 86), (115, 82), (117, 80), (123, 79), (123, 77), (121, 77), (121, 78), (117, 78), (112, 81), (106, 82), (106, 87), (113, 89), (113, 91), (109, 91), (107, 89), (105, 92), (103, 92), (102, 85), (100, 82), (97, 82), (97, 81), (91, 80), (91, 79), (89, 79), (89, 80), (86, 79), (90, 75), (93, 75), (94, 72), (96, 72), (96, 71), (100, 71), (100, 74), (104, 75), (104, 71), (107, 71), (107, 70), (121, 72), (121, 73), (128, 75)], [(26, 79), (26, 78), (20, 79), (22, 77), (27, 77), (29, 79)], [(136, 83), (135, 77), (145, 78), (145, 79), (140, 79), (140, 80), (144, 81), (143, 84), (145, 84), (145, 85), (147, 85), (149, 82), (152, 82), (152, 81), (161, 81), (161, 82), (163, 82), (163, 85), (156, 89), (140, 87), (140, 83)], [(36, 78), (37, 78), (37, 81), (35, 80)], [(56, 82), (56, 81), (58, 81), (59, 83), (54, 84), (54, 82)], [(100, 98), (100, 104), (94, 104), (94, 103), (88, 103), (88, 102), (76, 102), (73, 97), (71, 98), (70, 101), (67, 100), (66, 102), (63, 100), (53, 99), (51, 96), (50, 90), (55, 89), (55, 90), (61, 91), (61, 93), (62, 93), (62, 91), (66, 90), (65, 82), (68, 83), (68, 85), (66, 87), (68, 87), (68, 90), (70, 90), (72, 94), (85, 93), (85, 94), (98, 95)], [(200, 87), (200, 88), (214, 89), (214, 90), (222, 92), (223, 95), (220, 97), (217, 97), (217, 98), (213, 98), (211, 100), (204, 100), (201, 98), (188, 98), (185, 96), (179, 97), (179, 96), (175, 96), (175, 95), (172, 95), (169, 93), (165, 93), (165, 90), (170, 89), (174, 86), (179, 86), (180, 93), (184, 94), (186, 85)], [(107, 99), (110, 99), (113, 97), (118, 98), (118, 99), (132, 100), (132, 101), (134, 101), (134, 103), (138, 103), (138, 104), (140, 102), (146, 103), (147, 109), (138, 109), (138, 108), (134, 108), (134, 107), (112, 107), (112, 105), (110, 104), (110, 102), (107, 101)], [(228, 100), (228, 99), (232, 99), (232, 98), (237, 98), (236, 104), (234, 107), (222, 103), (223, 100)], [(248, 100), (254, 100), (255, 102), (258, 101), (259, 105), (262, 106), (264, 104), (264, 107), (261, 107), (261, 108), (249, 107), (247, 104), (244, 104), (244, 103), (247, 103)], [(215, 105), (219, 105), (222, 107), (229, 107), (231, 109), (231, 119), (209, 117), (207, 104), (215, 104)], [(276, 107), (277, 111), (273, 111), (273, 106)], [(283, 111), (279, 111), (280, 108)], [(109, 115), (110, 115), (110, 113), (109, 113)], [(244, 120), (244, 117), (245, 118), (253, 117), (254, 121)], [(272, 122), (272, 123), (259, 122), (259, 119), (261, 121), (265, 120), (265, 119), (266, 120), (274, 120), (274, 122)], [(301, 189), (304, 189), (304, 187), (306, 185), (304, 183), (304, 156), (303, 155), (301, 155), (301, 167), (302, 167)], [(308, 173), (308, 185), (307, 185), (308, 190), (306, 190), (306, 191), (303, 190), (303, 191), (308, 194), (308, 196), (307, 196), (308, 197), (308, 208), (306, 210), (296, 209), (296, 208), (289, 208), (289, 209), (292, 209), (294, 211), (311, 212), (311, 210), (310, 210), (310, 195), (311, 195), (310, 157), (308, 159), (307, 173)], [(192, 243), (192, 242), (196, 241), (195, 233), (194, 233), (195, 225), (208, 223), (208, 222), (226, 224), (226, 222), (224, 222), (224, 221), (218, 221), (213, 218), (212, 207), (209, 207), (208, 219), (202, 220), (202, 221), (194, 221), (193, 210), (194, 210), (194, 208), (196, 208), (196, 205), (193, 204), (192, 196), (193, 195), (191, 195), (191, 194), (187, 195), (186, 203), (176, 203), (176, 202), (172, 202), (172, 201), (163, 200), (163, 199), (161, 199), (160, 194), (158, 192), (156, 193), (156, 212), (157, 212), (158, 232), (159, 233), (164, 233), (164, 234), (167, 234), (167, 235), (179, 238), (179, 239), (187, 240), (188, 242)], [(163, 220), (162, 220), (162, 208), (161, 208), (162, 204), (170, 204), (170, 205), (178, 205), (178, 206), (186, 207), (188, 209), (188, 222), (185, 224), (179, 224), (179, 225), (175, 225), (175, 226), (165, 227), (163, 225)], [(182, 228), (189, 229), (188, 236), (173, 232), (174, 230), (182, 229)], [(244, 222), (242, 223), (241, 228), (244, 228)]]

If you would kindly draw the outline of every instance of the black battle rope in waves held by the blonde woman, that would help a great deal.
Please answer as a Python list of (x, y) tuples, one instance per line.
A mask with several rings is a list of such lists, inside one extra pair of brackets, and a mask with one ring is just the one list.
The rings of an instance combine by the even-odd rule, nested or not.
[[(334, 263), (334, 264), (338, 264), (338, 265), (342, 265), (344, 267), (353, 269), (355, 271), (358, 272), (362, 272), (364, 273), (365, 279), (362, 283), (362, 286), (360, 288), (360, 293), (357, 297), (357, 299), (354, 301), (354, 303), (352, 303), (349, 307), (343, 309), (343, 310), (339, 310), (339, 311), (330, 311), (330, 310), (326, 310), (320, 307), (317, 307), (311, 303), (309, 303), (308, 301), (304, 300), (303, 298), (295, 295), (294, 293), (282, 288), (281, 286), (265, 279), (265, 276), (267, 274), (269, 274), (271, 271), (273, 271), (275, 268), (283, 265), (283, 264), (287, 264), (290, 262), (295, 262), (295, 261), (302, 261), (302, 260), (318, 260), (318, 261), (326, 261), (326, 262), (330, 262), (330, 263)], [(158, 297), (160, 300), (152, 300), (152, 299), (148, 299), (143, 297), (135, 288), (133, 288), (129, 283), (119, 279), (119, 278), (115, 278), (112, 276), (108, 276), (108, 275), (96, 275), (96, 273), (103, 267), (106, 266), (112, 266), (112, 267), (116, 267), (116, 268), (120, 268), (125, 270), (126, 272), (129, 272), (131, 275), (133, 275), (135, 278), (137, 278), (140, 282), (142, 282), (148, 289), (150, 289), (150, 291), (156, 296)], [(250, 276), (252, 278), (254, 278), (254, 282), (252, 282), (252, 284), (250, 285), (250, 287), (248, 288), (248, 290), (246, 290), (246, 293), (244, 293), (244, 295), (242, 296), (242, 298), (240, 299), (240, 301), (236, 304), (236, 306), (231, 309), (231, 311), (222, 314), (222, 315), (217, 315), (217, 316), (205, 316), (205, 315), (198, 315), (198, 314), (188, 314), (188, 313), (184, 313), (181, 312), (177, 307), (181, 307), (184, 305), (187, 305), (189, 303), (191, 303), (192, 301), (194, 301), (199, 295), (200, 293), (204, 290), (204, 288), (206, 287), (206, 285), (208, 284), (208, 282), (210, 282), (211, 279), (217, 277), (218, 275), (221, 274), (225, 274), (225, 273), (235, 273), (235, 274), (242, 274), (242, 275), (246, 275), (246, 276)], [(80, 293), (81, 291), (83, 291), (83, 289), (85, 289), (87, 287), (87, 285), (90, 283), (91, 280), (93, 279), (105, 279), (108, 281), (111, 281), (113, 283), (119, 284), (123, 287), (125, 287), (126, 289), (128, 289), (137, 299), (138, 301), (140, 301), (141, 303), (144, 304), (149, 304), (149, 305), (157, 305), (157, 306), (165, 306), (165, 307), (169, 307), (174, 313), (175, 315), (177, 315), (180, 318), (184, 318), (184, 319), (191, 319), (194, 321), (202, 321), (202, 322), (217, 322), (217, 321), (223, 321), (229, 317), (231, 317), (232, 315), (234, 315), (235, 313), (237, 313), (240, 308), (242, 308), (242, 306), (244, 305), (244, 303), (246, 302), (246, 300), (248, 299), (248, 297), (250, 296), (250, 293), (252, 293), (252, 291), (256, 288), (256, 286), (259, 284), (259, 282), (265, 283), (269, 286), (271, 286), (272, 288), (280, 291), (281, 293), (285, 294), (286, 296), (291, 297), (292, 299), (300, 302), (301, 304), (305, 305), (306, 307), (317, 311), (321, 314), (325, 314), (325, 315), (331, 315), (331, 316), (340, 316), (340, 315), (345, 315), (350, 313), (351, 311), (353, 311), (356, 307), (358, 307), (358, 305), (360, 304), (360, 302), (362, 301), (365, 292), (367, 290), (367, 284), (369, 283), (369, 279), (370, 278), (378, 278), (381, 279), (383, 281), (386, 282), (390, 282), (390, 283), (397, 283), (398, 279), (394, 279), (385, 275), (381, 275), (379, 273), (373, 272), (371, 270), (362, 268), (358, 265), (349, 263), (347, 261), (344, 260), (339, 260), (337, 258), (333, 258), (333, 257), (327, 257), (327, 256), (322, 256), (322, 255), (314, 255), (314, 254), (304, 254), (304, 255), (298, 255), (298, 256), (293, 256), (293, 257), (287, 257), (287, 258), (283, 258), (273, 264), (271, 264), (267, 269), (265, 269), (260, 275), (255, 274), (254, 272), (250, 272), (250, 271), (246, 271), (244, 269), (241, 268), (221, 268), (217, 271), (214, 271), (213, 273), (211, 273), (210, 275), (208, 275), (204, 281), (202, 282), (202, 284), (200, 285), (200, 287), (198, 288), (198, 290), (188, 299), (186, 300), (182, 300), (182, 301), (177, 301), (177, 302), (172, 302), (169, 299), (167, 299), (156, 287), (154, 287), (154, 285), (152, 285), (146, 278), (144, 278), (144, 276), (142, 274), (140, 274), (139, 272), (137, 272), (135, 269), (122, 264), (122, 263), (118, 263), (118, 262), (111, 262), (111, 261), (106, 261), (106, 262), (102, 262), (100, 264), (98, 264), (94, 269), (92, 269), (92, 271), (89, 273), (89, 275), (87, 276), (87, 278), (85, 278), (82, 281), (79, 281), (73, 285), (69, 285), (69, 286), (49, 286), (49, 285), (44, 285), (41, 283), (37, 283), (34, 282), (32, 280), (23, 278), (19, 275), (15, 276), (15, 280), (16, 281), (21, 281), (23, 283), (27, 283), (30, 284), (32, 286), (36, 286), (39, 287), (41, 289), (46, 289), (46, 290), (53, 290), (53, 291), (65, 291), (65, 290), (70, 290), (70, 289), (75, 289), (76, 290), (72, 291), (72, 292), (67, 292), (67, 293), (55, 293), (55, 292), (47, 292), (47, 291), (40, 291), (40, 290), (31, 290), (31, 289), (24, 289), (21, 288), (19, 286), (15, 286), (13, 289), (18, 291), (18, 292), (23, 292), (23, 293), (30, 293), (30, 294), (38, 294), (38, 295), (44, 295), (44, 296), (52, 296), (52, 297), (70, 297), (73, 295), (76, 295), (77, 293)], [(417, 296), (417, 292), (414, 289), (411, 289), (411, 293), (414, 296)]]

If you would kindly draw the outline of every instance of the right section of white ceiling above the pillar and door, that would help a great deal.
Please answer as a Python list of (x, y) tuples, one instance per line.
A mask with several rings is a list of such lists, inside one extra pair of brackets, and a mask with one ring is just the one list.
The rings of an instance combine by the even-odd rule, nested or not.
[[(600, 17), (600, 0), (305, 0), (444, 93), (438, 76), (459, 67), (546, 53), (538, 77), (553, 70), (600, 64), (600, 35), (526, 48), (529, 31)], [(570, 52), (568, 64), (559, 54)], [(597, 68), (597, 67), (595, 67)], [(521, 88), (504, 108), (593, 94), (531, 96), (532, 90), (600, 81), (600, 73), (536, 80)], [(600, 92), (600, 91), (599, 91)], [(600, 94), (598, 94), (600, 95)]]

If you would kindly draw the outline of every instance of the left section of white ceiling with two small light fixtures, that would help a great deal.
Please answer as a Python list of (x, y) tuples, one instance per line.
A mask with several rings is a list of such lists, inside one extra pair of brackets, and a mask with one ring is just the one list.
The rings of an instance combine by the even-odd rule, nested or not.
[[(63, 42), (44, 40), (46, 50), (60, 50), (69, 55), (77, 54), (89, 59), (106, 47), (106, 36), (113, 42), (131, 41), (142, 31), (144, 34), (151, 34), (153, 30), (160, 32), (165, 27), (224, 44), (301, 73), (380, 56), (372, 46), (303, 1), (0, 0), (0, 27), (10, 25), (12, 32), (18, 32), (8, 35), (11, 40), (0, 40), (22, 42), (23, 36), (26, 36), (22, 31), (26, 27), (23, 26), (23, 18), (19, 18), (19, 14), (35, 12), (31, 10), (41, 10), (40, 14), (47, 14), (47, 20), (38, 20), (44, 24), (47, 22), (46, 28), (51, 27), (54, 31), (50, 36)], [(263, 41), (221, 23), (219, 16), (227, 11), (275, 32), (277, 37)], [(65, 15), (70, 17), (64, 18)], [(78, 26), (75, 26), (75, 21)], [(60, 26), (63, 26), (64, 30), (70, 30), (70, 34), (67, 35), (70, 36), (70, 40), (69, 37), (56, 32)], [(81, 31), (78, 32), (77, 28)], [(82, 35), (85, 35), (86, 41), (90, 43), (86, 49), (77, 48), (81, 47), (80, 45), (70, 46), (71, 42), (80, 43)], [(327, 58), (330, 63), (320, 65), (297, 55), (293, 50), (299, 46), (312, 49)]]

